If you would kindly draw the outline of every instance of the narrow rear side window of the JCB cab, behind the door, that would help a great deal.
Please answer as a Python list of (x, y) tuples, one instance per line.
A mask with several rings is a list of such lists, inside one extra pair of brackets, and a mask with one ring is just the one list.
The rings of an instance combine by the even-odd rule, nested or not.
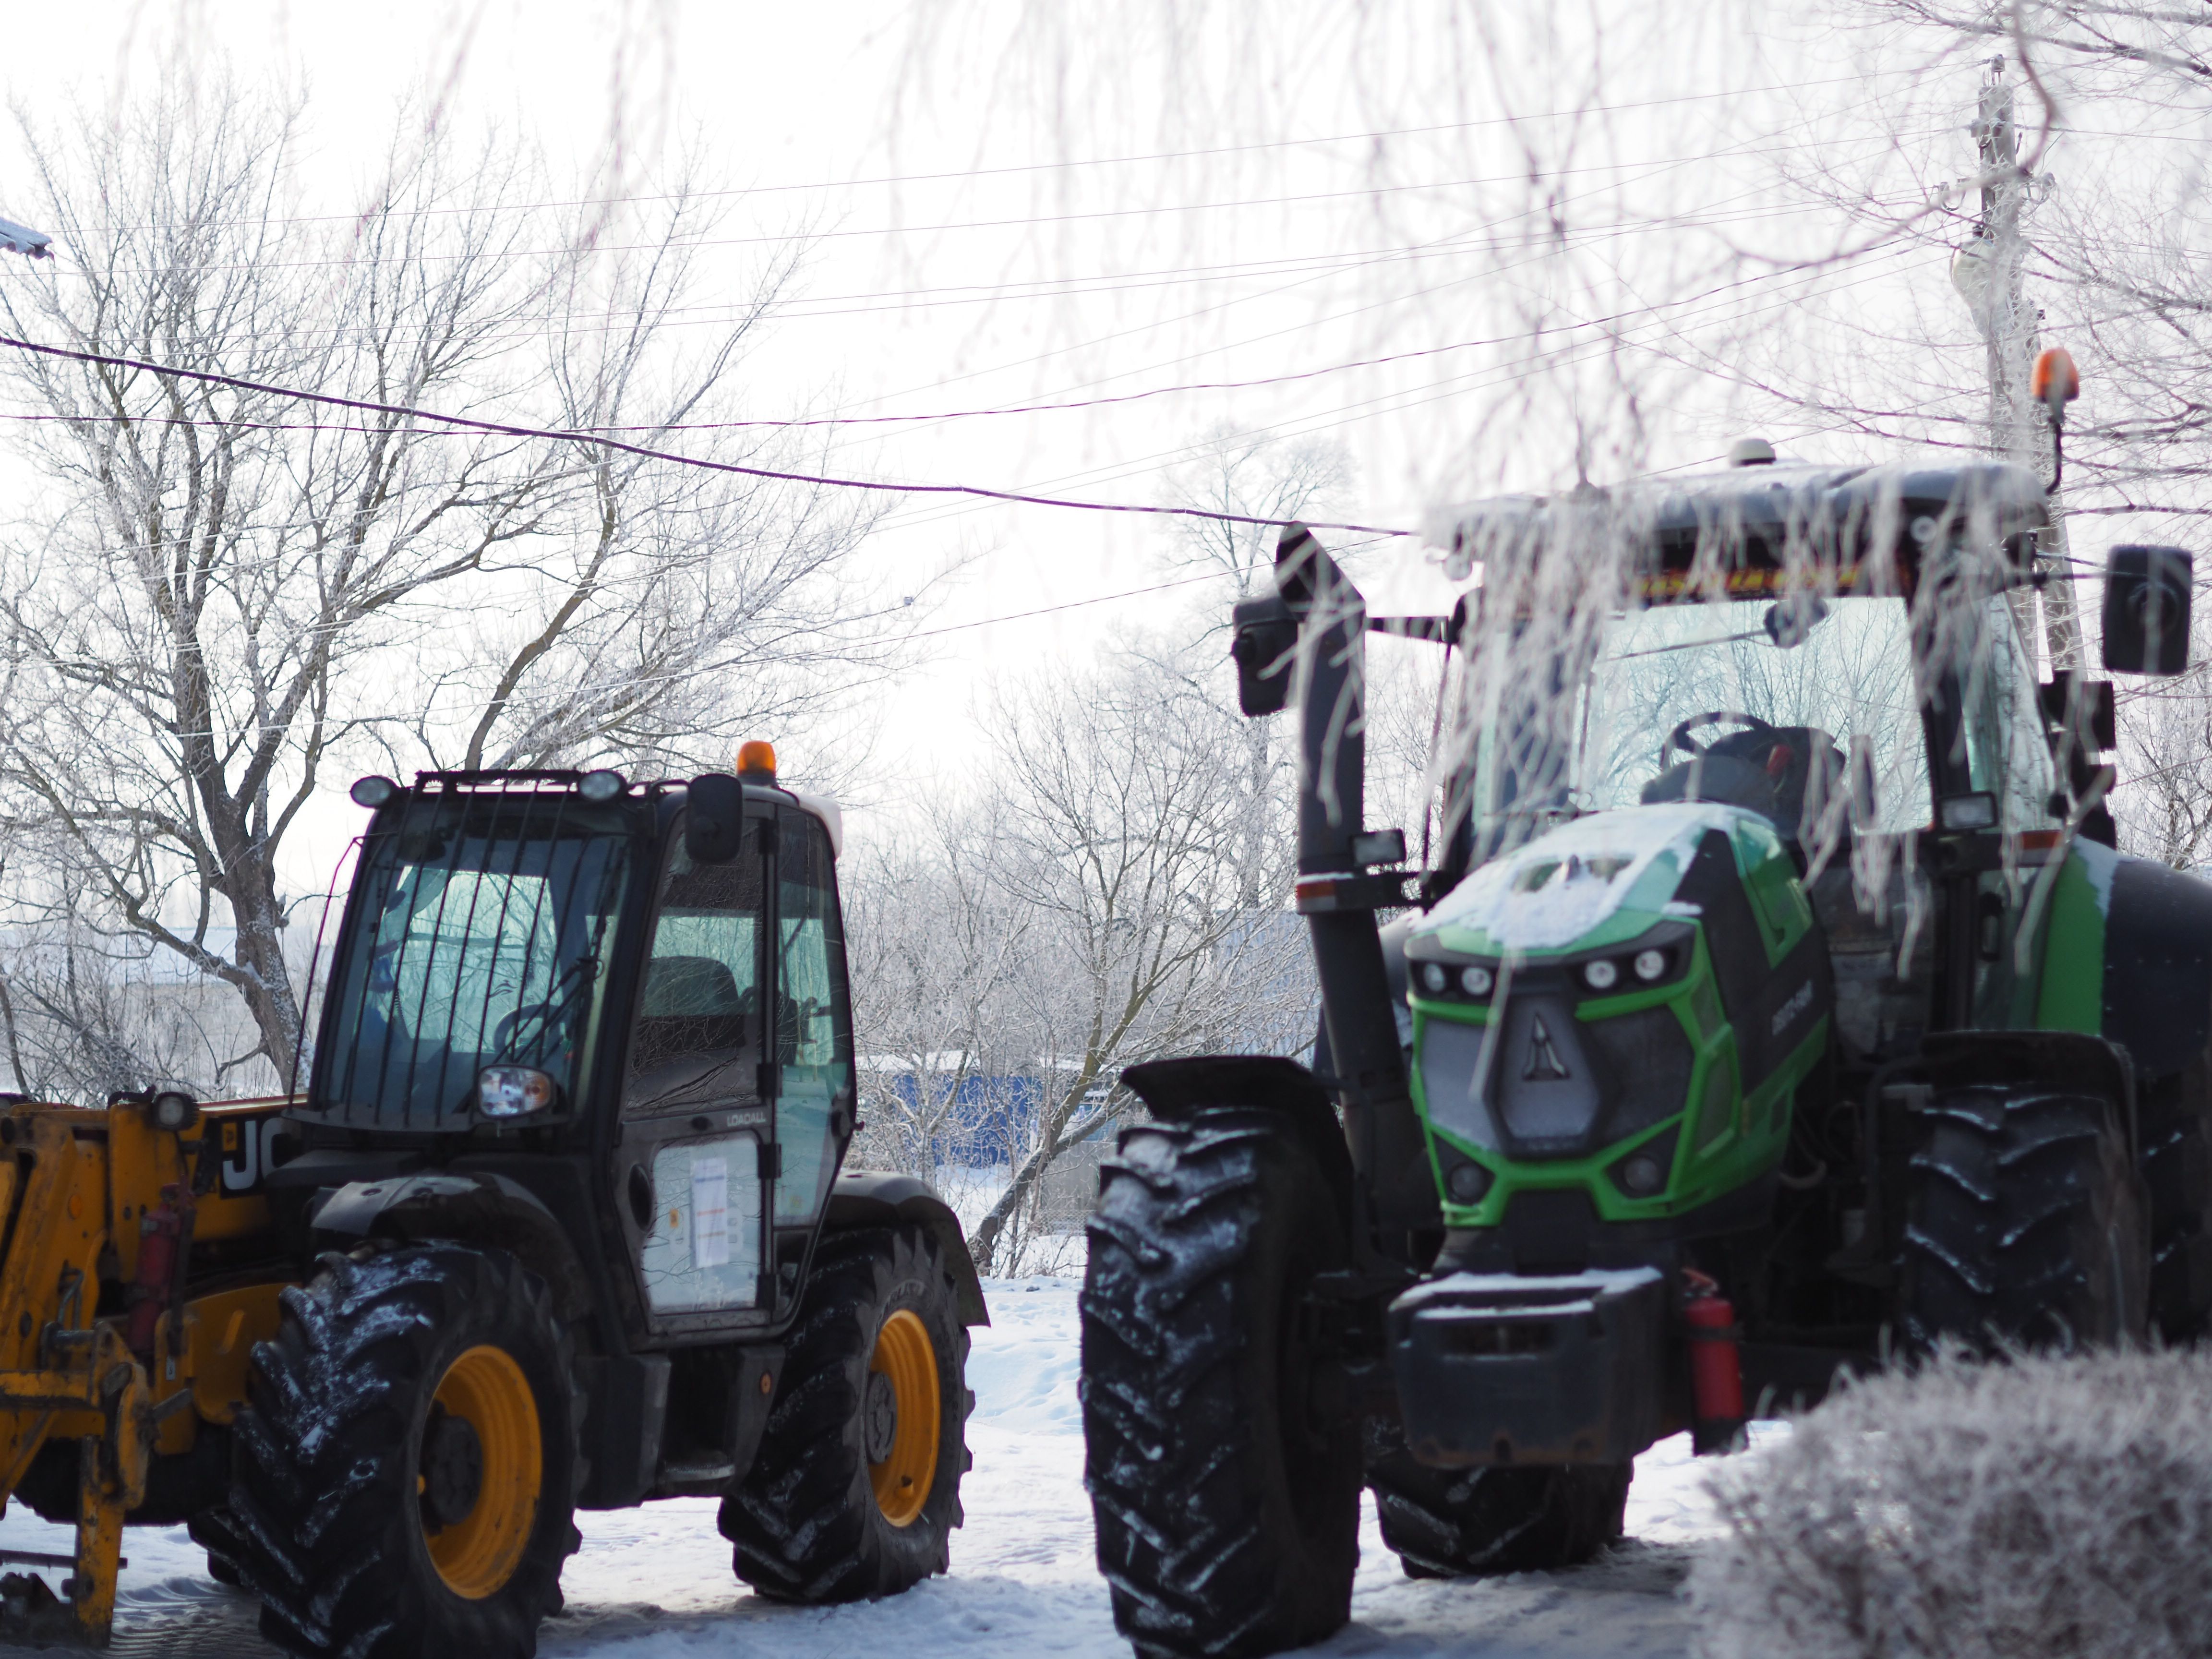
[(832, 1113), (852, 1110), (852, 1002), (830, 834), (785, 812), (776, 841), (776, 1221), (803, 1223), (836, 1177)]

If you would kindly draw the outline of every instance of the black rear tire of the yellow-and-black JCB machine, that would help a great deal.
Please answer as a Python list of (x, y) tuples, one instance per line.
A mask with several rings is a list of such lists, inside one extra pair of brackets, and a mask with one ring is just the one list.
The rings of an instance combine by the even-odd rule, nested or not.
[[(872, 1360), (891, 1321), (914, 1314), (936, 1360), (938, 1436), (929, 1489), (911, 1520), (878, 1500), (887, 1447), (872, 1447)], [(721, 1500), (721, 1535), (745, 1584), (779, 1601), (872, 1601), (951, 1564), (967, 1473), (969, 1336), (960, 1290), (925, 1228), (825, 1232), (799, 1321), (783, 1338), (783, 1378), (752, 1469)], [(880, 1407), (874, 1433), (885, 1425)], [(872, 1462), (874, 1451), (889, 1451)]]

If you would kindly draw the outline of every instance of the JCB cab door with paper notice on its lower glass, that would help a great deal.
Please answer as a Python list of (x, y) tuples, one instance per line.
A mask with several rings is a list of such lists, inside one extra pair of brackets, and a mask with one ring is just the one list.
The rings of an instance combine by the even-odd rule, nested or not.
[(668, 838), (630, 1013), (615, 1150), (617, 1210), (648, 1316), (661, 1329), (768, 1318), (774, 1099), (774, 821), (745, 825), (728, 863)]

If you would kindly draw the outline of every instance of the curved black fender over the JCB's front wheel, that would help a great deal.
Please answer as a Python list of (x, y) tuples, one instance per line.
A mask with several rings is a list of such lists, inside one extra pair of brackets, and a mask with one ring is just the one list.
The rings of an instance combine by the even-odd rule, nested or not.
[(504, 1250), (553, 1290), (566, 1321), (593, 1312), (591, 1276), (568, 1232), (538, 1194), (504, 1175), (398, 1175), (349, 1181), (307, 1214), (316, 1250), (367, 1241), (453, 1239)]

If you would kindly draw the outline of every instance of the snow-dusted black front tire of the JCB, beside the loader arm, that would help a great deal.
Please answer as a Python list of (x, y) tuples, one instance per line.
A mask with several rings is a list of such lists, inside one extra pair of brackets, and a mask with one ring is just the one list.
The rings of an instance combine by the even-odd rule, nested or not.
[[(453, 1378), (484, 1376), (509, 1385), (515, 1402), (484, 1413), (498, 1438), (491, 1451), (436, 1400)], [(327, 1254), (310, 1285), (283, 1292), (283, 1325), (254, 1347), (250, 1387), (230, 1517), (263, 1637), (319, 1659), (538, 1650), (538, 1624), (562, 1606), (562, 1564), (582, 1542), (573, 1515), (584, 1420), (568, 1334), (544, 1281), (500, 1250), (456, 1243), (358, 1261)], [(538, 1480), (535, 1498), (504, 1509), (504, 1537), (518, 1542), (440, 1568), (431, 1528), (449, 1548), (469, 1546), (484, 1533), (467, 1528), (502, 1513), (484, 1509), (500, 1489), (484, 1480), (507, 1455), (500, 1440), (515, 1449), (509, 1467), (529, 1458), (524, 1387), (538, 1418)], [(471, 1444), (473, 1489), (456, 1473), (471, 1469)], [(418, 1495), (420, 1482), (429, 1484)], [(440, 1486), (453, 1511), (445, 1522), (434, 1511)], [(467, 1573), (471, 1593), (445, 1571)]]

